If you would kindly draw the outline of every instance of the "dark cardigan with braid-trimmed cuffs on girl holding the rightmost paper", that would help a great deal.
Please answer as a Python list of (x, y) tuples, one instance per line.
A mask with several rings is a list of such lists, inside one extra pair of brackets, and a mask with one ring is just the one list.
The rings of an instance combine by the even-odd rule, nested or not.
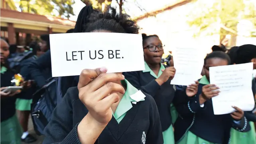
[(230, 129), (233, 127), (238, 131), (247, 132), (250, 125), (244, 117), (240, 124), (234, 123), (230, 114), (214, 115), (211, 99), (200, 107), (199, 95), (202, 93), (203, 84), (199, 84), (197, 95), (188, 97), (183, 90), (177, 90), (173, 99), (179, 117), (175, 121), (174, 138), (179, 142), (187, 131), (212, 143), (228, 144), (230, 139)]

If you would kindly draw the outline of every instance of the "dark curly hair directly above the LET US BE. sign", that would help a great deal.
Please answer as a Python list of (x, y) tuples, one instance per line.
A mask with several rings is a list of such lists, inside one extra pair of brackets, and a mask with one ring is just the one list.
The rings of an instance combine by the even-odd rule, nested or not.
[(108, 6), (105, 12), (91, 14), (89, 23), (84, 26), (84, 32), (97, 30), (111, 31), (114, 33), (138, 34), (139, 27), (127, 14), (117, 14), (116, 9)]

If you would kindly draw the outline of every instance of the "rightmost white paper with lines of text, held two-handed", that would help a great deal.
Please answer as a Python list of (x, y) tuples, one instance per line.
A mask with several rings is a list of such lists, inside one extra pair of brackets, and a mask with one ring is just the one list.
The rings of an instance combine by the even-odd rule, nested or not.
[(215, 115), (234, 112), (232, 106), (243, 111), (252, 111), (252, 68), (252, 63), (209, 68), (211, 84), (216, 84), (221, 91), (218, 96), (212, 98)]

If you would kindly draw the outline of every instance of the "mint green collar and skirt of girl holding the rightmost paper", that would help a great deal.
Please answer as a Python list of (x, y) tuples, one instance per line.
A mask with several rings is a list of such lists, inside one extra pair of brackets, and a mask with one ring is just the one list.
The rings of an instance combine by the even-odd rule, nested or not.
[[(203, 76), (199, 80), (199, 84), (210, 84), (207, 80), (206, 76)], [(212, 142), (208, 142), (207, 140), (204, 140), (203, 138), (200, 138), (193, 134), (192, 132), (188, 131), (185, 136), (177, 142), (177, 144), (215, 144)]]

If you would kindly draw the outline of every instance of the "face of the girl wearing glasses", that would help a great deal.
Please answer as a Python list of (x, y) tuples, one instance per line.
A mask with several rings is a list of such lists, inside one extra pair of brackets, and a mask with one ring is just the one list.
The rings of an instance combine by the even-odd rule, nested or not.
[(160, 64), (163, 55), (163, 44), (158, 37), (144, 40), (144, 59), (149, 64)]

